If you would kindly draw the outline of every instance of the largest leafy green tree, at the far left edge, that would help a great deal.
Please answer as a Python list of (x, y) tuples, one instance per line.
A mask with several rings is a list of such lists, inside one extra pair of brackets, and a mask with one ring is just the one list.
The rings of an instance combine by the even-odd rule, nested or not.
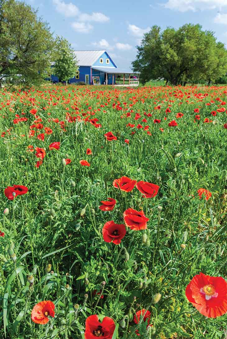
[(55, 41), (31, 6), (0, 0), (0, 83), (40, 83), (50, 73)]

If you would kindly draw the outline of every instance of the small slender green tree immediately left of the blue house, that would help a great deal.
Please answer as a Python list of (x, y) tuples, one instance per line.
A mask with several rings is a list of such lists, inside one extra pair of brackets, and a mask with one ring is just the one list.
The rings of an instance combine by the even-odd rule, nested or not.
[(78, 69), (77, 60), (71, 44), (63, 37), (56, 39), (57, 58), (54, 62), (54, 75), (59, 81), (67, 81), (73, 78)]

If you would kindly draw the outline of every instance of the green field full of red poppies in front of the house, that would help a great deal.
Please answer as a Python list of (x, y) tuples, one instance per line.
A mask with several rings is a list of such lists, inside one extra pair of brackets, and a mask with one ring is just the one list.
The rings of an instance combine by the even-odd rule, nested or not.
[(227, 87), (0, 92), (0, 338), (225, 338)]

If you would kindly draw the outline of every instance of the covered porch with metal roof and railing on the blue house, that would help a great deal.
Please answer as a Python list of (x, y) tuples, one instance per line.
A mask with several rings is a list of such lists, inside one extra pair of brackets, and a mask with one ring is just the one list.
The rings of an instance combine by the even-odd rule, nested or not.
[[(114, 85), (114, 86), (138, 86), (139, 74), (128, 69), (93, 66), (91, 68), (92, 84)], [(99, 79), (98, 79), (99, 78)]]

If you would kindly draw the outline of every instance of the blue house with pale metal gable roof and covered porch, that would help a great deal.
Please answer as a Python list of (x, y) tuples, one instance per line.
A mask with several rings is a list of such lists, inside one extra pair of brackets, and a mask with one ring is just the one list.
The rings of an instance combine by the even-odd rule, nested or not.
[[(75, 51), (78, 71), (69, 83), (85, 82), (87, 85), (138, 85), (139, 77), (132, 76), (133, 71), (118, 68), (105, 50)], [(125, 79), (127, 78), (127, 80)], [(51, 75), (53, 82), (58, 77)]]

